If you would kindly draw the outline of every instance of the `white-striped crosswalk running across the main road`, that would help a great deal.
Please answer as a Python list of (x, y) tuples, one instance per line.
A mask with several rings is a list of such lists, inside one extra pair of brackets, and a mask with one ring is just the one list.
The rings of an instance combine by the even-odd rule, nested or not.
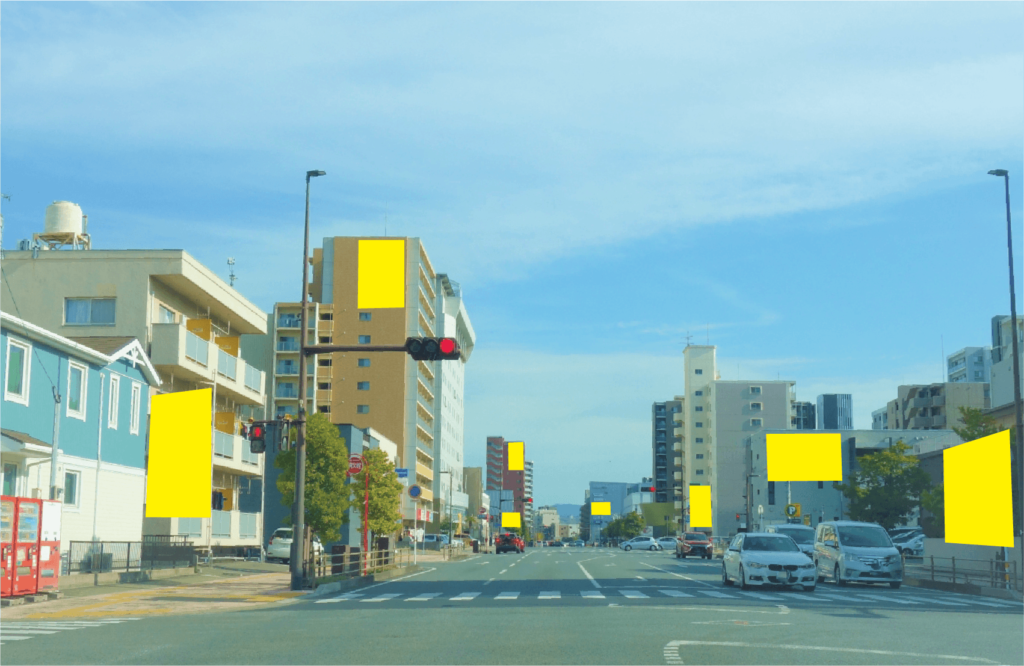
[[(786, 606), (801, 605), (807, 601), (810, 606), (825, 605), (843, 605), (843, 603), (853, 603), (853, 605), (863, 605), (863, 606), (880, 606), (892, 603), (897, 607), (903, 608), (918, 608), (927, 609), (932, 608), (943, 608), (947, 610), (980, 610), (979, 607), (988, 609), (1002, 609), (1002, 610), (1019, 610), (1024, 611), (1024, 605), (1017, 601), (1000, 600), (993, 598), (975, 598), (966, 595), (932, 595), (932, 594), (903, 594), (901, 592), (893, 593), (881, 593), (881, 592), (869, 592), (869, 591), (851, 591), (847, 594), (826, 592), (826, 591), (815, 591), (815, 592), (803, 592), (795, 591), (792, 593), (770, 593), (770, 592), (755, 592), (749, 590), (737, 590), (729, 589), (729, 591), (722, 591), (716, 589), (708, 588), (696, 588), (687, 587), (684, 590), (678, 588), (669, 587), (656, 587), (656, 586), (640, 586), (643, 589), (634, 586), (632, 588), (617, 589), (617, 588), (602, 588), (595, 590), (582, 590), (579, 592), (566, 592), (562, 593), (560, 590), (540, 590), (538, 592), (522, 592), (521, 590), (506, 590), (501, 592), (493, 592), (492, 594), (483, 595), (481, 592), (477, 591), (464, 591), (458, 594), (454, 592), (423, 592), (420, 594), (409, 595), (404, 598), (406, 601), (430, 601), (433, 599), (447, 600), (447, 601), (472, 601), (479, 598), (484, 599), (495, 599), (499, 601), (522, 601), (522, 600), (555, 600), (562, 598), (582, 598), (582, 599), (606, 599), (609, 597), (627, 598), (627, 599), (651, 599), (660, 598), (665, 599), (689, 599), (692, 601), (698, 601), (700, 599), (733, 599), (733, 600), (757, 600), (764, 601), (766, 603), (778, 605), (784, 603)], [(728, 588), (727, 588), (728, 589)], [(869, 589), (869, 588), (865, 588)], [(403, 596), (400, 592), (388, 592), (388, 593), (365, 593), (365, 592), (348, 592), (345, 594), (340, 594), (338, 596), (333, 596), (325, 599), (317, 599), (315, 603), (341, 603), (345, 601), (356, 602), (356, 603), (380, 603), (384, 601), (390, 601), (395, 599), (401, 599)]]

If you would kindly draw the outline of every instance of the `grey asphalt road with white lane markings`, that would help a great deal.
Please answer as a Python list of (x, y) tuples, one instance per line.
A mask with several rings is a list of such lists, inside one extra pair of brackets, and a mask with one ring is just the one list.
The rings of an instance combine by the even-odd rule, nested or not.
[(527, 549), (202, 616), (0, 621), (19, 664), (1024, 664), (1024, 605), (903, 587), (723, 587), (721, 560)]

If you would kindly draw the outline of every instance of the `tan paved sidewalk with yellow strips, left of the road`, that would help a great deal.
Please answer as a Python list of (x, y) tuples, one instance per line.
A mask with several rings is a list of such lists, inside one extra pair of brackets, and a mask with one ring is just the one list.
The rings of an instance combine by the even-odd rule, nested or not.
[(289, 602), (307, 593), (291, 590), (291, 576), (286, 566), (238, 561), (205, 566), (201, 574), (178, 578), (71, 588), (61, 599), (3, 609), (0, 619), (67, 620), (218, 613)]

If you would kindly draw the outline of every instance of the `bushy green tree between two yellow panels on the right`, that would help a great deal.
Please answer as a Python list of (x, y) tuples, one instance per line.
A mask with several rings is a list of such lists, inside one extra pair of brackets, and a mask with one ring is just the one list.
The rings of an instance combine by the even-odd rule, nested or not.
[(889, 449), (864, 456), (858, 461), (860, 469), (850, 474), (850, 482), (837, 486), (849, 501), (851, 519), (878, 523), (887, 530), (906, 521), (921, 503), (921, 494), (931, 487), (918, 459), (907, 455), (909, 450), (900, 440)]

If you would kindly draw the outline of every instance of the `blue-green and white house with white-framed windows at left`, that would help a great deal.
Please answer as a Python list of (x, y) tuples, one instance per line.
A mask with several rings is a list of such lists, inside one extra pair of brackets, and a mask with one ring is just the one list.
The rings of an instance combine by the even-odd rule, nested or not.
[(61, 541), (139, 541), (150, 393), (161, 383), (139, 341), (62, 337), (0, 313), (0, 494), (50, 496), (58, 425)]

